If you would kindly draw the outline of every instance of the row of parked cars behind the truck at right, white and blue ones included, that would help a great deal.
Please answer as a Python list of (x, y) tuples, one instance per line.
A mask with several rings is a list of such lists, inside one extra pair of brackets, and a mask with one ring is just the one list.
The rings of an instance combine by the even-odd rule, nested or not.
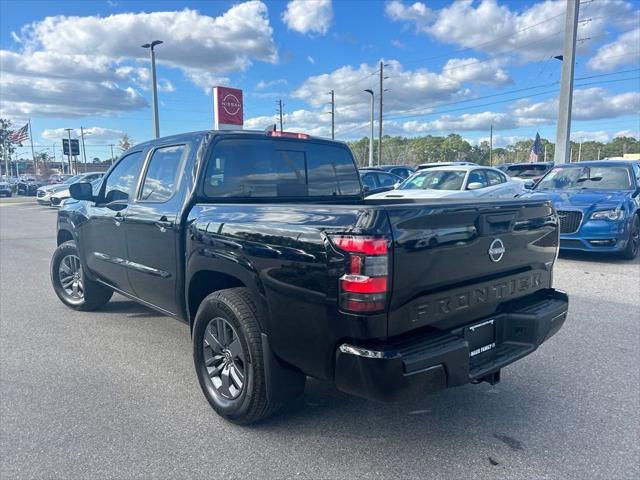
[(503, 164), (442, 162), (360, 170), (369, 199), (551, 198), (560, 248), (615, 253), (640, 250), (640, 162), (597, 160)]

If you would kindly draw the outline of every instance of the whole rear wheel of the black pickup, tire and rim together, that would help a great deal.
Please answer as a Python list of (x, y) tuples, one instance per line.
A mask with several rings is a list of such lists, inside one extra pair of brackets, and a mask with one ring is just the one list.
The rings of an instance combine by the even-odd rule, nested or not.
[(207, 296), (193, 325), (193, 360), (202, 392), (218, 415), (238, 425), (257, 422), (279, 407), (267, 397), (258, 316), (249, 290), (230, 288)]

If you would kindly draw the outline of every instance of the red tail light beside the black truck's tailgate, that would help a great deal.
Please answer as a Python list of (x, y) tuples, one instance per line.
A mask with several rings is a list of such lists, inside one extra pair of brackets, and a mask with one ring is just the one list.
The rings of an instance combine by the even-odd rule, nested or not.
[(389, 289), (389, 251), (385, 237), (333, 235), (333, 244), (347, 253), (340, 277), (340, 308), (371, 313), (384, 310)]

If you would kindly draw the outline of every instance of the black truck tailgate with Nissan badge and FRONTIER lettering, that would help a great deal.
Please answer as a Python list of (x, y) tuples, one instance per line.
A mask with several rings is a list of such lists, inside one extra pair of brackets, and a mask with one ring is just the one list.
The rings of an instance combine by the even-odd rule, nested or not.
[(389, 336), (451, 329), (551, 286), (558, 220), (546, 200), (415, 202), (385, 210), (393, 236)]

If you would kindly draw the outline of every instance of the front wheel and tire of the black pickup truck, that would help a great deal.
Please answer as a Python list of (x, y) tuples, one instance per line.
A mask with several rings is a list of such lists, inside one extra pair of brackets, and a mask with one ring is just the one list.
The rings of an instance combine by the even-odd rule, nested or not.
[(112, 289), (86, 277), (73, 240), (64, 242), (53, 253), (51, 284), (62, 303), (74, 310), (96, 310), (113, 295)]

